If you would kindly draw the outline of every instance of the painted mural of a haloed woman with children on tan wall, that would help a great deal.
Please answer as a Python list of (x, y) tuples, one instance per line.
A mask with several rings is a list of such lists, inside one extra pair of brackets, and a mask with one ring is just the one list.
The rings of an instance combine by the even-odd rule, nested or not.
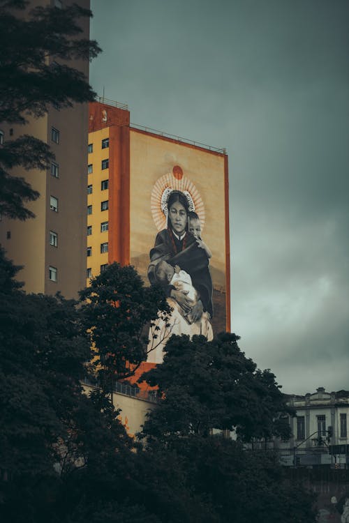
[[(131, 131), (131, 264), (173, 309), (167, 330), (165, 319), (154, 326), (157, 342), (226, 328), (226, 190), (223, 154)], [(148, 361), (162, 361), (162, 348)]]

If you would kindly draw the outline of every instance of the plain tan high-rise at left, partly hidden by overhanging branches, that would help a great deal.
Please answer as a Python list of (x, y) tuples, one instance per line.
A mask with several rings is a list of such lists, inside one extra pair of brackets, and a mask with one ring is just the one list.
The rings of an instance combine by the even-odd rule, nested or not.
[[(64, 5), (73, 3), (84, 8), (90, 4), (89, 0), (66, 0)], [(31, 2), (31, 7), (39, 4), (53, 2)], [(82, 38), (89, 38), (89, 18), (82, 19), (81, 26)], [(89, 77), (88, 61), (70, 60), (68, 65)], [(40, 192), (36, 202), (29, 204), (36, 218), (0, 221), (0, 243), (8, 258), (24, 266), (18, 279), (25, 282), (28, 292), (61, 291), (70, 298), (85, 286), (87, 129), (87, 103), (61, 110), (50, 107), (45, 116), (30, 119), (26, 126), (0, 123), (4, 140), (33, 135), (49, 144), (56, 156), (46, 172), (13, 169), (13, 174), (23, 176)]]

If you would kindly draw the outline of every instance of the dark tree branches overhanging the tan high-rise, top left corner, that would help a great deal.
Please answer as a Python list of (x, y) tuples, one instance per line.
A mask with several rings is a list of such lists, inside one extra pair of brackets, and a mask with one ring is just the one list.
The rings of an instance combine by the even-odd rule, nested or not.
[[(0, 122), (25, 125), (28, 116), (43, 116), (51, 105), (71, 107), (95, 96), (84, 75), (65, 63), (89, 60), (101, 51), (96, 41), (79, 38), (80, 22), (91, 17), (91, 11), (76, 4), (38, 6), (24, 17), (29, 4), (0, 0)], [(47, 169), (53, 158), (47, 144), (29, 135), (0, 146), (1, 215), (34, 217), (25, 204), (37, 199), (38, 192), (10, 169)]]

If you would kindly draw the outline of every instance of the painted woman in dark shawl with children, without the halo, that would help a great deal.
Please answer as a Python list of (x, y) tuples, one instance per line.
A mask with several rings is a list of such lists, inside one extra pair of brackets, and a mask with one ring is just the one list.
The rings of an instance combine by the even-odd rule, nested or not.
[(158, 318), (158, 329), (149, 331), (148, 361), (153, 363), (163, 361), (169, 335), (202, 334), (208, 340), (213, 338), (211, 252), (200, 236), (200, 219), (189, 210), (190, 206), (193, 202), (188, 193), (168, 190), (163, 209), (167, 228), (158, 232), (150, 251), (149, 281), (163, 286), (172, 308), (168, 323)]

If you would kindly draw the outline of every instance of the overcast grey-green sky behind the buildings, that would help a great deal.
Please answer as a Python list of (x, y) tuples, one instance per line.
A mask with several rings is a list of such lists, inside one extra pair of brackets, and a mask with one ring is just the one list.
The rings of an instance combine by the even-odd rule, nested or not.
[(91, 0), (98, 94), (226, 147), (232, 331), (285, 393), (349, 389), (349, 1)]

